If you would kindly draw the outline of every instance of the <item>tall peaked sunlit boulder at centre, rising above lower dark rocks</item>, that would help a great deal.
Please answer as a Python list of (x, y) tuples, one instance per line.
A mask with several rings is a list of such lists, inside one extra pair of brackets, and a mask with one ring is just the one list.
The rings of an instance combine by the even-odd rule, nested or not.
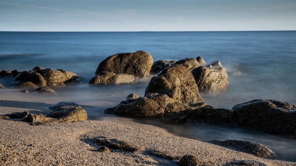
[(147, 93), (166, 94), (175, 102), (193, 104), (204, 102), (199, 96), (197, 85), (191, 72), (183, 65), (172, 65), (152, 77), (145, 90)]

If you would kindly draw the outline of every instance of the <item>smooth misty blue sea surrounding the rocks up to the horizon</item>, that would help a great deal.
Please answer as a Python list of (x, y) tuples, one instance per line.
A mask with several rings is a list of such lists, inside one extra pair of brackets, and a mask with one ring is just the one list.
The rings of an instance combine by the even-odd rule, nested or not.
[[(275, 99), (296, 105), (296, 31), (242, 32), (0, 32), (0, 71), (31, 70), (35, 66), (64, 69), (87, 79), (79, 85), (53, 88), (59, 96), (81, 105), (90, 119), (104, 116), (130, 93), (144, 96), (149, 80), (129, 85), (88, 86), (99, 63), (116, 53), (145, 50), (154, 61), (203, 57), (220, 61), (228, 76), (226, 93), (209, 97), (215, 108), (231, 109), (253, 99)], [(13, 79), (0, 79), (6, 85)], [(273, 150), (279, 160), (296, 162), (296, 139), (266, 134), (248, 128), (210, 124), (164, 124), (140, 121), (167, 129), (176, 135), (200, 141), (237, 139), (259, 142)]]

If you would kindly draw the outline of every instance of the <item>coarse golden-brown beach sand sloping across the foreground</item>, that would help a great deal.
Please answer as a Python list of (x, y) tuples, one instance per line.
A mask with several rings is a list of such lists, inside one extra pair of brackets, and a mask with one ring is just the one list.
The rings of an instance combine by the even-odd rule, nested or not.
[[(1, 89), (0, 114), (23, 111), (47, 114), (52, 111), (49, 106), (62, 101), (76, 102), (77, 97)], [(191, 154), (208, 165), (223, 165), (232, 160), (256, 160), (270, 166), (296, 165), (179, 137), (134, 119), (103, 114), (104, 108), (114, 106), (112, 102), (77, 104), (88, 112), (90, 120), (31, 126), (18, 120), (0, 119), (0, 165), (178, 165), (174, 160), (148, 154), (148, 149), (166, 151), (169, 156)], [(98, 152), (100, 146), (88, 141), (97, 136), (126, 141), (142, 151)]]

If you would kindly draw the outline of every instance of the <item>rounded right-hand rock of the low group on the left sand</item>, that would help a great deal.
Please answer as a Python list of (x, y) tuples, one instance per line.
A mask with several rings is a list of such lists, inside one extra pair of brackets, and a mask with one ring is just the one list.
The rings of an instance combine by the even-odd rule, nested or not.
[(75, 122), (75, 121), (86, 121), (87, 113), (80, 106), (64, 107), (62, 109), (56, 109), (46, 117), (55, 118), (55, 123)]

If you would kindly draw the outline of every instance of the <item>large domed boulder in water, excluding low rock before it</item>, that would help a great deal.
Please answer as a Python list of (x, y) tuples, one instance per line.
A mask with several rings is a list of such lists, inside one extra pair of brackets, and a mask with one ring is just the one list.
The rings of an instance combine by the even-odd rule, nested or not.
[(96, 76), (102, 72), (125, 73), (136, 77), (146, 77), (149, 75), (153, 65), (153, 59), (146, 51), (135, 53), (118, 53), (107, 57), (102, 61), (96, 70)]

